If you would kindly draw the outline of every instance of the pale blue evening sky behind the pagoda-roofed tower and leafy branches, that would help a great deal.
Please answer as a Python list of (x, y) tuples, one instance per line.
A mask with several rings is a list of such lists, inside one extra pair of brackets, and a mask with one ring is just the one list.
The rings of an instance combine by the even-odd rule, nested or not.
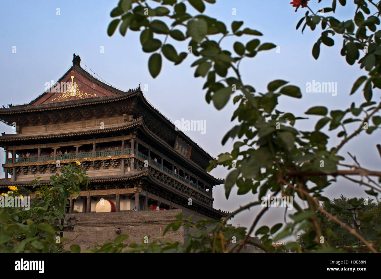
[[(300, 29), (295, 30), (296, 23), (304, 16), (306, 8), (295, 8), (290, 0), (218, 0), (215, 5), (207, 4), (206, 14), (225, 22), (229, 27), (232, 21), (244, 21), (245, 27), (257, 29), (264, 35), (261, 42), (272, 42), (280, 46), (280, 53), (275, 49), (262, 52), (253, 59), (245, 59), (240, 66), (245, 83), (253, 85), (257, 91), (266, 92), (266, 85), (272, 80), (283, 79), (299, 86), (302, 90), (302, 99), (280, 97), (278, 110), (293, 112), (296, 116), (309, 107), (325, 105), (330, 109), (345, 109), (356, 102), (364, 102), (362, 92), (349, 97), (352, 84), (357, 77), (366, 74), (360, 70), (358, 64), (349, 66), (344, 57), (339, 55), (342, 38), (335, 35), (335, 46), (323, 46), (317, 61), (312, 57), (311, 50), (315, 41), (320, 37), (320, 26), (315, 31), (306, 28), (304, 34)], [(311, 0), (310, 6), (317, 11), (330, 6), (331, 0)], [(0, 105), (24, 104), (30, 102), (44, 91), (45, 83), (58, 80), (72, 64), (73, 53), (79, 55), (92, 71), (116, 88), (128, 90), (135, 88), (139, 83), (147, 84), (144, 92), (149, 102), (171, 121), (206, 120), (207, 132), (186, 132), (195, 142), (211, 155), (231, 151), (232, 142), (225, 147), (221, 139), (234, 123), (230, 122), (234, 105), (230, 102), (227, 107), (217, 111), (213, 105), (205, 102), (205, 92), (202, 90), (204, 80), (193, 77), (194, 68), (190, 65), (195, 60), (188, 56), (180, 65), (164, 59), (160, 75), (153, 79), (147, 69), (147, 60), (150, 54), (143, 53), (139, 42), (139, 33), (128, 30), (125, 37), (119, 33), (108, 37), (106, 30), (111, 18), (110, 11), (117, 5), (117, 1), (3, 1), (0, 11), (1, 43), (0, 55), (0, 82), (2, 84)], [(56, 9), (60, 9), (60, 15)], [(236, 15), (232, 15), (232, 9)], [(192, 9), (192, 8), (190, 8)], [(193, 12), (194, 10), (192, 10)], [(355, 7), (348, 3), (347, 7), (338, 4), (336, 18), (349, 19), (353, 16)], [(332, 13), (330, 13), (333, 15)], [(240, 37), (239, 41), (247, 42), (253, 37)], [(232, 49), (236, 38), (226, 38), (224, 47)], [(173, 43), (176, 48), (186, 48), (186, 43)], [(16, 53), (12, 53), (16, 46)], [(100, 52), (104, 47), (104, 53)], [(182, 50), (186, 51), (186, 49)], [(85, 68), (84, 68), (85, 69)], [(338, 94), (306, 93), (306, 83), (337, 82)], [(378, 89), (374, 91), (374, 98), (378, 100)], [(318, 118), (300, 120), (298, 128), (312, 130)], [(349, 126), (357, 128), (357, 124)], [(12, 129), (0, 124), (0, 130), (11, 133)], [(338, 130), (329, 133), (335, 136)], [(363, 167), (377, 169), (380, 158), (376, 151), (377, 138), (380, 132), (373, 132), (372, 136), (363, 134), (355, 137), (341, 151), (344, 156), (349, 151), (357, 156)], [(334, 139), (330, 145), (338, 142)], [(2, 153), (2, 152), (0, 152)], [(3, 154), (3, 153), (2, 153)], [(347, 158), (347, 156), (346, 156)], [(0, 156), (0, 163), (4, 156)], [(347, 160), (345, 163), (352, 164)], [(2, 169), (0, 169), (2, 172)], [(212, 172), (216, 177), (225, 177), (226, 169), (218, 167)], [(3, 174), (0, 173), (3, 177)], [(257, 195), (235, 195), (237, 188), (232, 191), (231, 198), (224, 197), (223, 185), (218, 186), (213, 195), (214, 207), (232, 211), (239, 205), (258, 199)], [(344, 194), (348, 197), (365, 196), (364, 188), (339, 180), (326, 191), (330, 198)], [(367, 190), (367, 189), (365, 189)], [(236, 225), (250, 226), (256, 212), (261, 208), (247, 211), (232, 220)], [(275, 224), (282, 222), (283, 209), (271, 208), (262, 218), (264, 223)]]

